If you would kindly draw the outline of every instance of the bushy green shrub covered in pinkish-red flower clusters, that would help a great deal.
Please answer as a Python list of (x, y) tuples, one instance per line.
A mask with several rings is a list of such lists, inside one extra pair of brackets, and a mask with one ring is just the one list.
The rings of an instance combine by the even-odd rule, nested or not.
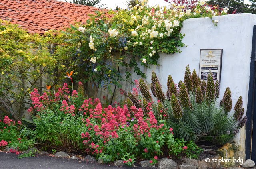
[[(193, 143), (174, 139), (167, 121), (155, 118), (151, 103), (146, 105), (146, 113), (136, 106), (130, 111), (126, 105), (103, 108), (99, 99), (92, 102), (91, 98), (80, 107), (76, 100), (79, 93), (70, 96), (66, 84), (58, 89), (55, 100), (48, 94), (39, 96), (36, 89), (31, 93), (35, 136), (59, 150), (82, 150), (105, 162), (124, 159), (127, 164), (135, 158), (151, 159), (168, 153), (172, 157), (197, 157), (200, 153)], [(190, 148), (182, 149), (184, 146)]]

